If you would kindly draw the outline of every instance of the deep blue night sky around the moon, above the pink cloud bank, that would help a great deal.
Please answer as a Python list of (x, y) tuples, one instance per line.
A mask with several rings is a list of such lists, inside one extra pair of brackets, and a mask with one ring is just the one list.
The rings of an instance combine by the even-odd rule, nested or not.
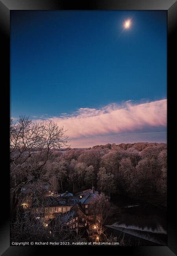
[(11, 115), (166, 98), (166, 29), (166, 11), (11, 11)]

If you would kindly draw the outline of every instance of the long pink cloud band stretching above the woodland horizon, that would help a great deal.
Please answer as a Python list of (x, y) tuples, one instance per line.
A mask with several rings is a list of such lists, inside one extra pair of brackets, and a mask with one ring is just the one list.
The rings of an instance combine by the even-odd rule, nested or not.
[(108, 105), (101, 109), (81, 108), (73, 115), (53, 117), (59, 126), (68, 129), (69, 139), (136, 132), (144, 128), (166, 126), (167, 100), (122, 106)]

